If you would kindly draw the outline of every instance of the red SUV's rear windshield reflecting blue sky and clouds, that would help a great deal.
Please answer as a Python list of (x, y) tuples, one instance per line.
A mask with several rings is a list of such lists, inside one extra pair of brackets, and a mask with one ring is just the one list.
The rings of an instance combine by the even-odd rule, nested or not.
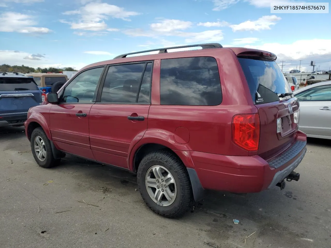
[(292, 93), (276, 62), (263, 58), (238, 58), (255, 104), (279, 101), (279, 94)]

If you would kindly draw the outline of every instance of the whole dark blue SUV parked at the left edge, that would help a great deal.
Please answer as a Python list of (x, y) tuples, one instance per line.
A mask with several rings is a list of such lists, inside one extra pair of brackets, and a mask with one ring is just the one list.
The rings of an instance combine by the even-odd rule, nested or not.
[(41, 94), (33, 78), (0, 72), (0, 127), (23, 126), (28, 109), (41, 103)]

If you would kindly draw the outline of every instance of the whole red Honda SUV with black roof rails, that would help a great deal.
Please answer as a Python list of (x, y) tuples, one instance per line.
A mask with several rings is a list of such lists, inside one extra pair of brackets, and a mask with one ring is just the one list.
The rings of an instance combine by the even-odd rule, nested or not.
[[(202, 49), (167, 52), (187, 47)], [(29, 109), (32, 154), (44, 168), (68, 153), (137, 173), (147, 205), (172, 218), (205, 189), (282, 189), (299, 180), (307, 136), (275, 60), (211, 43), (88, 65)]]

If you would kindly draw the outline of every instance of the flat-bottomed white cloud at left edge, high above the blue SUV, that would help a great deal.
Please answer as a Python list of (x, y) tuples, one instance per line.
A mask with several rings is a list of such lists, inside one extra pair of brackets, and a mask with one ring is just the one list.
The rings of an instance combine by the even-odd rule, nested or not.
[(0, 15), (0, 32), (49, 33), (46, 27), (35, 27), (38, 23), (33, 16), (17, 12), (5, 12)]

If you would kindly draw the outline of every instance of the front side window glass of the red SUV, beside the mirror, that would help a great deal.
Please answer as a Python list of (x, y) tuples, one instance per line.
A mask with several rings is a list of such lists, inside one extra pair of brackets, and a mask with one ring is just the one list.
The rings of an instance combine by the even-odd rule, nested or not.
[(83, 71), (65, 88), (62, 103), (91, 103), (104, 67)]

